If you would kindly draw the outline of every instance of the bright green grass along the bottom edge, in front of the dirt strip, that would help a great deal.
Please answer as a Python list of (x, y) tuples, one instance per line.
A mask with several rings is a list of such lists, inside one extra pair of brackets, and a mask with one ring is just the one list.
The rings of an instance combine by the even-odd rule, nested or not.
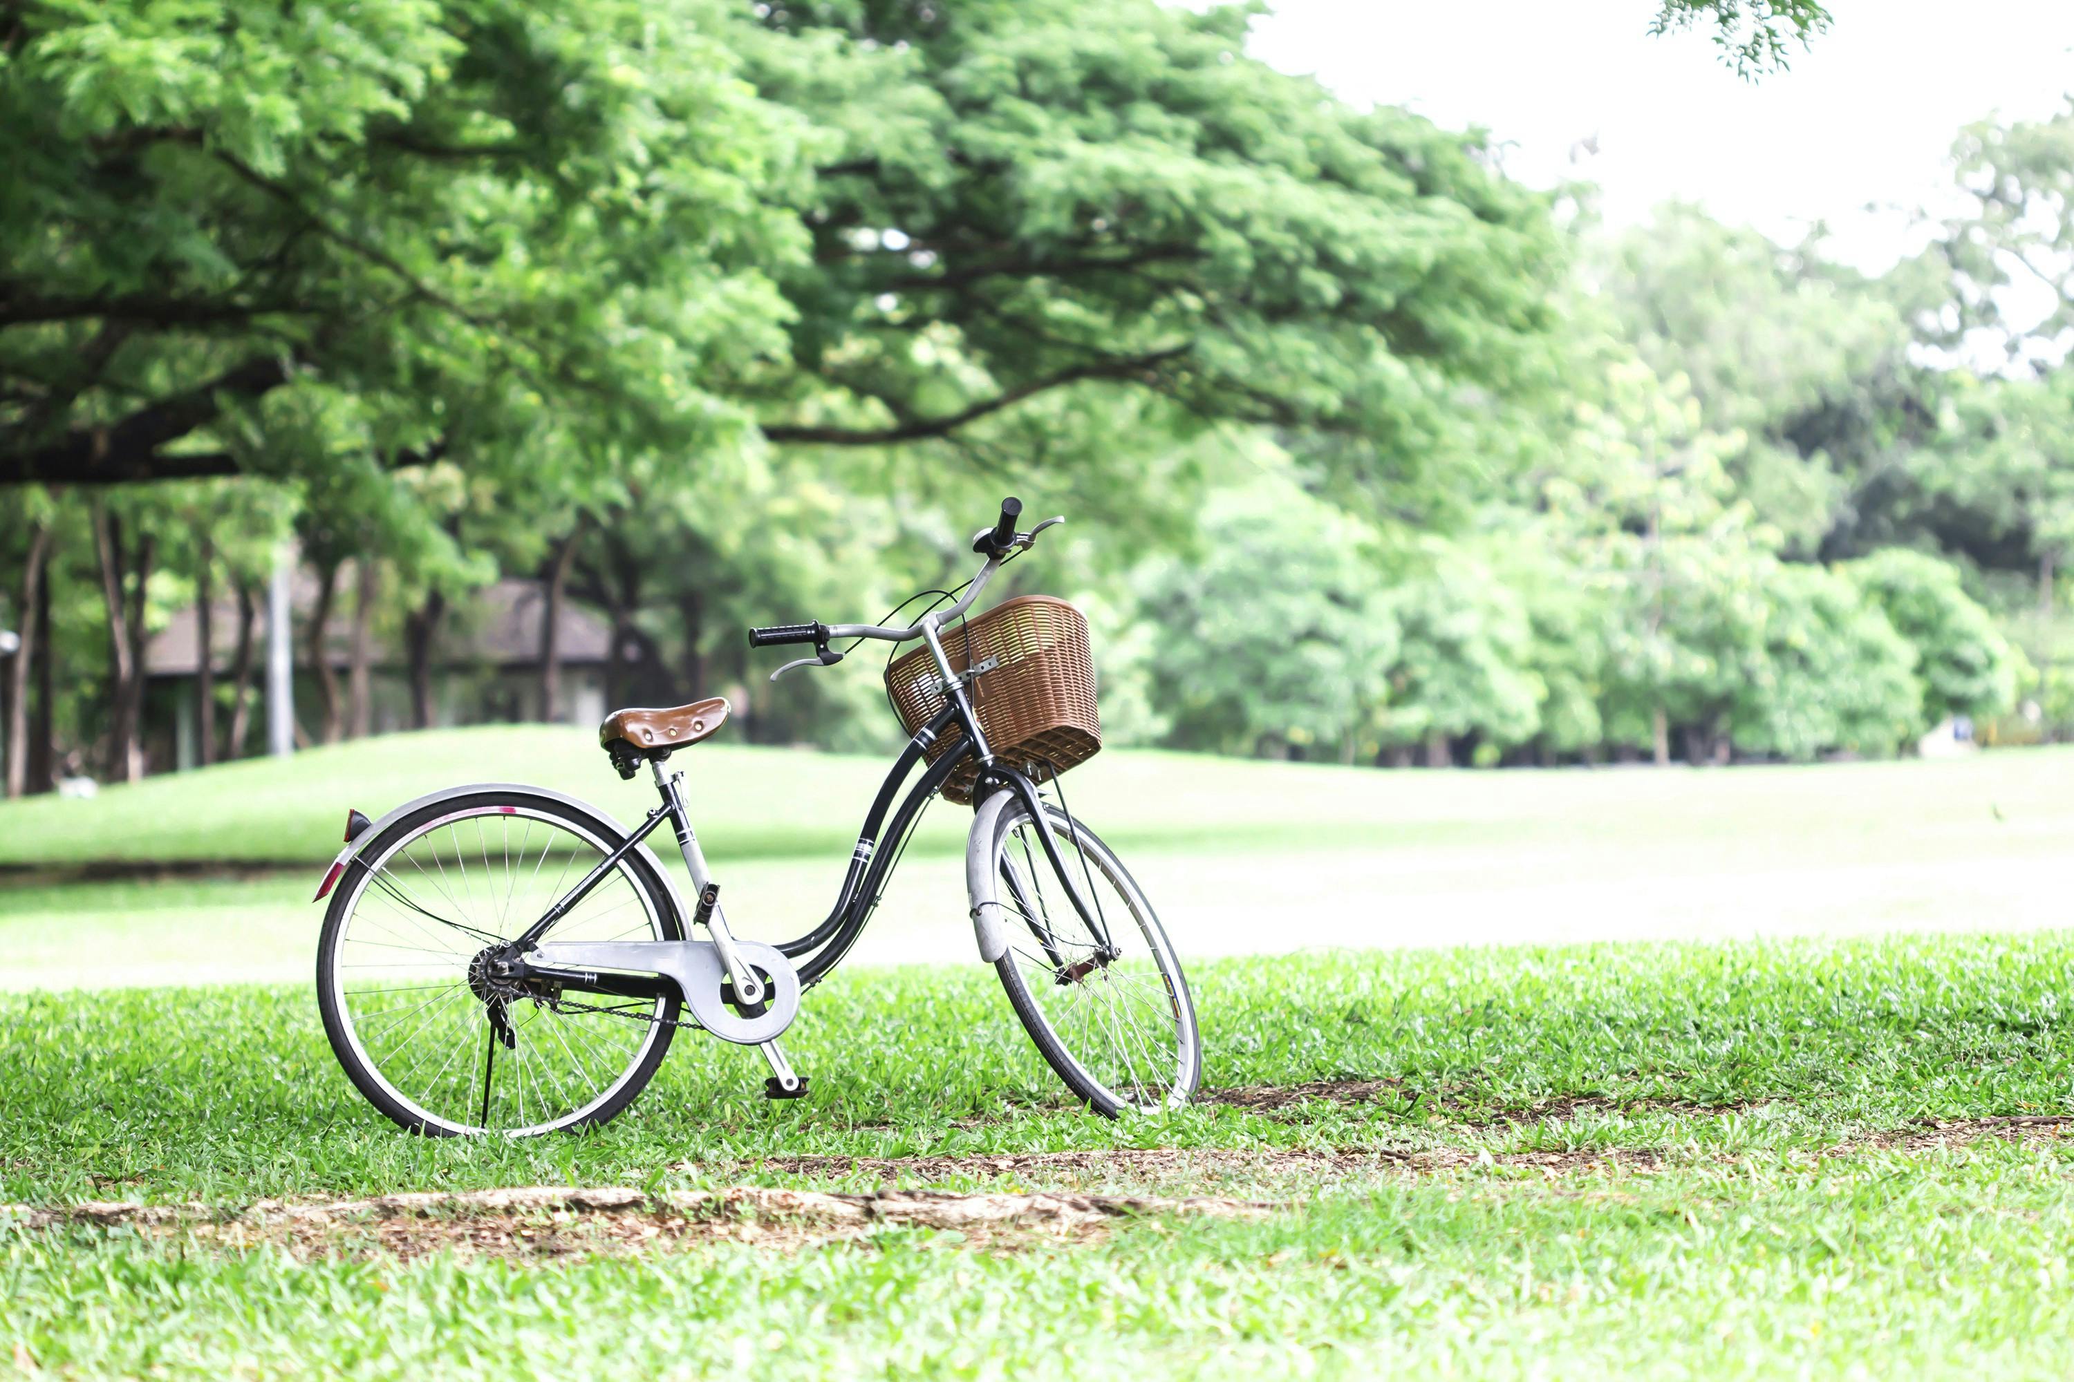
[(2059, 1156), (1983, 1148), (1597, 1193), (1427, 1183), (1095, 1249), (303, 1266), (0, 1245), (0, 1334), (116, 1376), (2064, 1378)]

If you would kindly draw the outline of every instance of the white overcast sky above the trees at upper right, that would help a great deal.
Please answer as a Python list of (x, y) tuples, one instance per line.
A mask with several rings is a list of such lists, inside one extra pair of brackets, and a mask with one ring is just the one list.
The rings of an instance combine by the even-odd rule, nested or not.
[(2070, 0), (1829, 0), (1829, 31), (1757, 83), (1697, 29), (1649, 37), (1655, 0), (1273, 4), (1259, 58), (1489, 128), (1508, 172), (1597, 182), (1614, 224), (1672, 197), (1788, 242), (1825, 220), (1831, 253), (1873, 271), (1916, 249), (1908, 211), (1950, 184), (1962, 124), (2043, 118), (2074, 91)]

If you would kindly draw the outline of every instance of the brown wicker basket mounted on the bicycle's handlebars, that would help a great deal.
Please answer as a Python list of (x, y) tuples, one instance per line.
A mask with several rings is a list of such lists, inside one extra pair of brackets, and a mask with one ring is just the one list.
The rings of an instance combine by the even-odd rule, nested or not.
[[(1101, 748), (1095, 661), (1087, 651), (1087, 615), (1078, 609), (1049, 595), (1018, 595), (962, 628), (944, 630), (942, 638), (952, 671), (996, 659), (966, 692), (996, 758), (1035, 767), (1043, 781)], [(908, 733), (942, 713), (942, 680), (927, 644), (902, 653), (886, 669), (886, 690)], [(960, 736), (958, 725), (950, 725), (929, 746), (929, 760), (942, 758)], [(979, 760), (966, 758), (944, 783), (944, 796), (971, 802), (977, 779)]]

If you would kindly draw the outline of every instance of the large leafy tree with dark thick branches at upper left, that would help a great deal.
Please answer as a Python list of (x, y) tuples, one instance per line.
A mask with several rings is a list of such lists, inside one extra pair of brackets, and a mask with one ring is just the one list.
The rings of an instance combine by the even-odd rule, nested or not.
[[(0, 481), (680, 454), (782, 352), (796, 131), (701, 0), (12, 10)], [(697, 137), (689, 139), (686, 131)]]

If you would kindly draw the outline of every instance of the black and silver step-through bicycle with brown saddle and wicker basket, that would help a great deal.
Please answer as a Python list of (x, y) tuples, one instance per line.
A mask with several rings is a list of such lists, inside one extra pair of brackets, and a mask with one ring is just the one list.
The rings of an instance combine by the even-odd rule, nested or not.
[[(734, 937), (691, 827), (684, 773), (664, 771), (728, 719), (718, 696), (606, 717), (612, 767), (630, 779), (645, 765), (662, 798), (633, 831), (518, 783), (436, 791), (380, 820), (348, 812), (346, 847), (315, 897), (332, 899), (317, 1005), (355, 1088), (425, 1135), (597, 1127), (641, 1094), (689, 1026), (757, 1046), (772, 1069), (765, 1096), (801, 1098), (809, 1082), (780, 1036), (801, 995), (850, 953), (923, 806), (944, 796), (975, 812), (966, 891), (979, 957), (1045, 1063), (1108, 1117), (1184, 1104), (1203, 1063), (1188, 982), (1143, 889), (1058, 787), (1099, 748), (1087, 620), (1047, 597), (966, 620), (989, 578), (1064, 522), (1016, 532), (1020, 512), (1016, 499), (1002, 503), (973, 539), (979, 572), (958, 591), (925, 593), (952, 603), (908, 626), (749, 630), (753, 649), (813, 646), (772, 680), (832, 667), (865, 640), (925, 644), (888, 663), (908, 742), (871, 802), (836, 905), (794, 941)], [(664, 823), (693, 883), (689, 910), (643, 843)]]

